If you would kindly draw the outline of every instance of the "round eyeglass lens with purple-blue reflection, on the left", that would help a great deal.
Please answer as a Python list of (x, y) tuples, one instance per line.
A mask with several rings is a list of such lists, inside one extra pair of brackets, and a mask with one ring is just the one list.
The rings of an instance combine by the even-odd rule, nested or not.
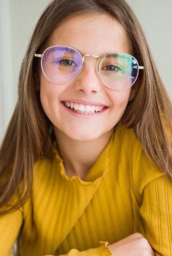
[(41, 66), (48, 80), (63, 84), (72, 81), (78, 75), (82, 66), (82, 57), (70, 47), (53, 46), (43, 53)]

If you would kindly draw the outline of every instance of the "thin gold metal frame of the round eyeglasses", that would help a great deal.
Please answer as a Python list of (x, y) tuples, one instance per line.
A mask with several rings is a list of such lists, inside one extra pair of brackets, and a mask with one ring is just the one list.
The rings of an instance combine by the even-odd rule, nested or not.
[[(44, 55), (44, 53), (46, 52), (46, 50), (48, 50), (48, 49), (50, 49), (50, 48), (53, 48), (53, 47), (57, 47), (57, 46), (59, 46), (59, 47), (66, 47), (66, 48), (69, 48), (69, 49), (72, 49), (72, 50), (78, 52), (76, 49), (74, 49), (74, 48), (72, 48), (72, 47), (69, 47), (69, 46), (66, 46), (66, 45), (53, 45), (53, 46), (50, 46), (50, 47), (46, 48), (46, 49), (44, 50), (43, 54), (38, 54), (38, 53), (35, 53), (35, 54), (34, 54), (35, 57), (41, 58), (41, 70), (42, 70), (44, 76), (45, 76), (46, 79), (48, 79), (51, 83), (54, 83), (54, 84), (67, 84), (67, 83), (73, 81), (73, 79), (75, 79), (75, 78), (81, 73), (81, 71), (83, 70), (83, 68), (84, 68), (84, 58), (85, 58), (85, 57), (94, 57), (94, 58), (98, 58), (98, 61), (99, 61), (99, 62), (98, 62), (98, 65), (96, 66), (96, 71), (97, 71), (97, 74), (99, 75), (99, 77), (100, 77), (102, 83), (104, 83), (104, 81), (102, 80), (101, 75), (100, 75), (99, 64), (100, 64), (100, 61), (102, 60), (102, 58), (104, 58), (105, 56), (110, 55), (110, 54), (114, 54), (114, 53), (125, 54), (125, 55), (128, 55), (128, 56), (130, 56), (130, 57), (132, 57), (132, 58), (134, 58), (134, 59), (136, 60), (136, 62), (137, 62), (137, 76), (136, 76), (136, 78), (135, 78), (135, 81), (137, 80), (137, 77), (138, 77), (138, 75), (139, 75), (139, 69), (141, 69), (141, 70), (144, 70), (144, 69), (145, 69), (144, 66), (139, 66), (139, 63), (138, 63), (137, 59), (136, 59), (135, 57), (133, 57), (132, 55), (128, 54), (128, 53), (123, 53), (123, 52), (110, 52), (110, 53), (107, 53), (107, 54), (105, 54), (104, 56), (100, 57), (100, 56), (91, 55), (91, 54), (84, 54), (84, 55), (82, 56), (81, 53), (78, 52), (79, 55), (81, 56), (81, 59), (82, 59), (82, 65), (81, 65), (80, 72), (79, 72), (73, 79), (71, 79), (71, 80), (68, 81), (68, 82), (65, 82), (65, 83), (55, 83), (55, 82), (51, 81), (51, 80), (45, 75), (44, 70), (43, 70), (42, 60), (43, 60), (43, 55)], [(134, 83), (135, 83), (135, 81), (134, 81)], [(132, 86), (134, 83), (132, 83), (131, 86)], [(104, 84), (105, 84), (105, 83), (104, 83)], [(125, 91), (125, 90), (127, 90), (127, 89), (129, 89), (129, 88), (131, 87), (131, 86), (129, 86), (129, 87), (127, 87), (126, 89), (118, 90), (118, 89), (113, 89), (113, 88), (109, 87), (107, 84), (105, 84), (105, 86), (107, 86), (108, 88), (110, 88), (110, 89), (113, 90), (113, 91)]]

